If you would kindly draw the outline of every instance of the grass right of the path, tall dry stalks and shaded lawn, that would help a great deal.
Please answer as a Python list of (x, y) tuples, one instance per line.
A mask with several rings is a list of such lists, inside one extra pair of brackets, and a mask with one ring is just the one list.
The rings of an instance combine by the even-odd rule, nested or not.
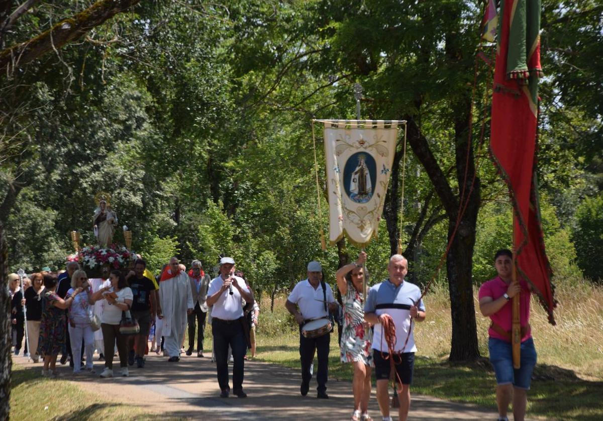
[[(603, 288), (583, 287), (558, 291), (564, 308), (556, 312), (557, 326), (549, 325), (543, 311), (533, 303), (531, 321), (539, 364), (528, 392), (528, 417), (603, 420)], [(426, 297), (429, 319), (417, 324), (415, 331), (419, 351), (412, 393), (496, 410), (496, 380), (487, 358), (466, 365), (447, 361), (451, 328), (446, 294), (435, 290)], [(264, 303), (264, 308), (269, 306), (269, 302)], [(274, 309), (273, 314), (260, 313), (260, 323), (264, 325), (257, 332), (256, 359), (299, 369), (298, 333), (289, 324), (291, 320), (282, 303), (275, 303)], [(487, 356), (487, 320), (476, 317), (480, 351)], [(330, 343), (329, 377), (351, 381), (352, 367), (339, 362), (336, 338), (335, 330)]]

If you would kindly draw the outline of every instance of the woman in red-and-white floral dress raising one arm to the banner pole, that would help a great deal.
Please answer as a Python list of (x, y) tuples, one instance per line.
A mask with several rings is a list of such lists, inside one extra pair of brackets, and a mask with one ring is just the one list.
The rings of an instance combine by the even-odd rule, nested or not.
[(373, 331), (364, 321), (364, 294), (362, 282), (367, 253), (361, 252), (355, 263), (350, 263), (337, 271), (337, 286), (343, 302), (343, 332), (341, 334), (341, 362), (354, 365), (354, 412), (352, 421), (372, 420), (368, 416), (368, 399), (371, 396), (371, 367), (373, 351), (371, 341)]

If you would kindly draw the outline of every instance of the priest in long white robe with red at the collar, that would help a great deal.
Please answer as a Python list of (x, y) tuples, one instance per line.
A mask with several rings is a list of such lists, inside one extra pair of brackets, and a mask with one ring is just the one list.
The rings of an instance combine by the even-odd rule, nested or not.
[(191, 314), (191, 283), (185, 270), (179, 267), (177, 258), (171, 258), (169, 265), (161, 274), (159, 282), (159, 301), (163, 317), (164, 349), (170, 362), (180, 361), (181, 344), (185, 337), (187, 314)]

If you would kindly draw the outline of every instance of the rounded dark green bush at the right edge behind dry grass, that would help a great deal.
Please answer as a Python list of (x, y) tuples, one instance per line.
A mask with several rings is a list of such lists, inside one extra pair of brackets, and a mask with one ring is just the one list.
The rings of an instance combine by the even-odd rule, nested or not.
[(603, 253), (603, 194), (587, 197), (576, 209), (577, 226), (573, 241), (578, 252), (578, 265), (584, 276), (592, 280), (602, 279)]

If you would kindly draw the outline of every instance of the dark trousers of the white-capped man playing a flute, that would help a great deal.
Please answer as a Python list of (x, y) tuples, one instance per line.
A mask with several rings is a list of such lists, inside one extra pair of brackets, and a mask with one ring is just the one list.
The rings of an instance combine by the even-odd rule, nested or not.
[(232, 369), (232, 387), (234, 391), (243, 388), (244, 357), (247, 351), (243, 326), (240, 320), (212, 319), (213, 354), (216, 358), (218, 370), (218, 384), (220, 390), (230, 390), (228, 384), (228, 347), (232, 348), (234, 360)]

